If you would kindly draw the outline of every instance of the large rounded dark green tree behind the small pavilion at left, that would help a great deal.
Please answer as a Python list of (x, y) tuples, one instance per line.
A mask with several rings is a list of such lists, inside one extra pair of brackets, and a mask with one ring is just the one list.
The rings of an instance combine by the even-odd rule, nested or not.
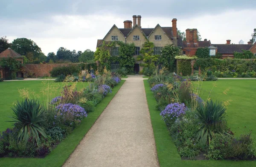
[(15, 39), (11, 48), (20, 55), (26, 56), (30, 61), (38, 58), (41, 53), (41, 48), (34, 41), (27, 38)]

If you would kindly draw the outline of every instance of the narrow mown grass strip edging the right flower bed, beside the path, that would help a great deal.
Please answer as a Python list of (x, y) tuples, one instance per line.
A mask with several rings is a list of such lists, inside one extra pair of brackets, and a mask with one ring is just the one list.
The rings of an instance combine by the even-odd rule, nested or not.
[(177, 147), (172, 141), (165, 123), (161, 120), (160, 111), (156, 108), (157, 102), (150, 91), (147, 80), (144, 80), (144, 86), (160, 167), (256, 167), (256, 161), (181, 160)]

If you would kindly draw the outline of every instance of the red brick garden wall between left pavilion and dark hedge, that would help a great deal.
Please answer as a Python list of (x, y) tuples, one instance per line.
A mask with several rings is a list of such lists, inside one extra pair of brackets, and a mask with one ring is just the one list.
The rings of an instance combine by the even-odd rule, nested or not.
[[(50, 71), (55, 67), (67, 66), (70, 64), (27, 64), (26, 68), (35, 73), (36, 77), (50, 76)], [(26, 71), (26, 68), (24, 69)]]

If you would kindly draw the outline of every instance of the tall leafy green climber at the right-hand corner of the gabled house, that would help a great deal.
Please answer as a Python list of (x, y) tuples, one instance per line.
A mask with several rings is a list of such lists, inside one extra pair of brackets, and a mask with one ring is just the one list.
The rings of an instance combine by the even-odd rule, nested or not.
[(162, 49), (160, 63), (169, 71), (176, 71), (175, 56), (177, 56), (179, 52), (180, 48), (173, 44), (164, 46)]

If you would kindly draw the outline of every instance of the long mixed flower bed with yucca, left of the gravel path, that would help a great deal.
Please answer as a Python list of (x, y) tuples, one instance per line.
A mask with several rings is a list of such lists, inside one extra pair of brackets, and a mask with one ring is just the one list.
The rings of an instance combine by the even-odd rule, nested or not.
[[(0, 133), (0, 157), (44, 157), (50, 153), (111, 93), (105, 81), (116, 76), (105, 71), (97, 77), (97, 82), (90, 82), (81, 91), (74, 85), (65, 86), (61, 96), (47, 105), (28, 98), (17, 102), (12, 108), (14, 127)], [(101, 85), (110, 89), (98, 91)]]

